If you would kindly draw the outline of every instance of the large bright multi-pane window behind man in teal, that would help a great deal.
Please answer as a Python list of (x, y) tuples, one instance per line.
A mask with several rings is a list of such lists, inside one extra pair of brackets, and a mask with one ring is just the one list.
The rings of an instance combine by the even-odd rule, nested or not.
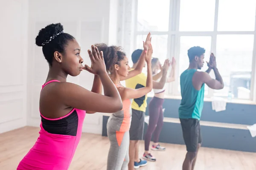
[[(224, 80), (222, 90), (205, 86), (207, 97), (253, 99), (256, 85), (256, 0), (137, 0), (134, 48), (142, 48), (148, 31), (152, 34), (154, 56), (163, 63), (175, 56), (176, 81), (169, 93), (180, 95), (180, 74), (189, 66), (187, 51), (193, 46), (210, 53)], [(210, 75), (214, 77), (213, 71)], [(254, 81), (253, 81), (254, 80)]]

